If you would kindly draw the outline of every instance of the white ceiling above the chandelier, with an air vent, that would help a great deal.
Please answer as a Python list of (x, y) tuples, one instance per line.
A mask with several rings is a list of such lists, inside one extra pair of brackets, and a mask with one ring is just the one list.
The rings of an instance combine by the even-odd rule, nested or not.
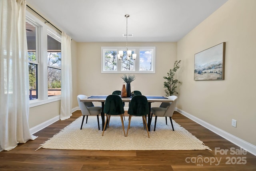
[(227, 0), (26, 0), (76, 42), (177, 42)]

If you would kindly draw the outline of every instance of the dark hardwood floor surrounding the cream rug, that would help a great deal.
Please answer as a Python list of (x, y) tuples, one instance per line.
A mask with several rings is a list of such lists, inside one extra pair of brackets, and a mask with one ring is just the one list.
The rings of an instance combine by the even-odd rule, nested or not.
[[(91, 151), (38, 149), (40, 144), (58, 133), (81, 115), (56, 123), (35, 133), (34, 141), (19, 144), (0, 153), (0, 171), (85, 171), (85, 170), (152, 170), (152, 171), (256, 171), (256, 156), (216, 135), (176, 112), (173, 119), (210, 147), (189, 151)], [(169, 122), (170, 123), (170, 122)], [(169, 124), (168, 123), (168, 124)], [(78, 128), (79, 129), (79, 128)], [(226, 154), (220, 152), (228, 150)], [(236, 152), (236, 154), (233, 154)], [(200, 163), (198, 159), (202, 159)]]

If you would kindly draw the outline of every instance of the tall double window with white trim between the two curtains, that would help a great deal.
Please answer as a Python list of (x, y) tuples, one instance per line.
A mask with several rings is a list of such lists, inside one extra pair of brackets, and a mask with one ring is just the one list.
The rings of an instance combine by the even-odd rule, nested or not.
[(30, 107), (60, 100), (61, 35), (26, 12)]

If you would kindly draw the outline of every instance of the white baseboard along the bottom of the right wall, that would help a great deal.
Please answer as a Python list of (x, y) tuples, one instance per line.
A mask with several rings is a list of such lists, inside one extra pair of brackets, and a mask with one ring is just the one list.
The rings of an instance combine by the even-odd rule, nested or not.
[(249, 153), (252, 153), (253, 155), (256, 156), (256, 146), (255, 145), (252, 145), (251, 143), (248, 143), (248, 142), (246, 142), (246, 141), (244, 141), (226, 131), (223, 131), (222, 129), (219, 129), (218, 127), (215, 127), (214, 125), (211, 125), (210, 123), (207, 123), (207, 122), (203, 121), (202, 119), (199, 119), (181, 109), (176, 108), (176, 111), (180, 112), (182, 115), (188, 117), (192, 121), (195, 121), (196, 123), (202, 125), (203, 127), (206, 127), (210, 131), (220, 135), (221, 137), (225, 138), (226, 140), (234, 143), (238, 147), (241, 147), (242, 149), (245, 149)]

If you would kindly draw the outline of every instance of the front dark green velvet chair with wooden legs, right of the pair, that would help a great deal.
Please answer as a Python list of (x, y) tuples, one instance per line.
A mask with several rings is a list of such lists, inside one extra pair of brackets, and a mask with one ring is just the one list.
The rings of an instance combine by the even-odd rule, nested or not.
[[(146, 129), (148, 132), (148, 124), (146, 121), (146, 115), (149, 114), (148, 108), (148, 99), (144, 95), (134, 95), (131, 99), (130, 106), (128, 109), (129, 114), (129, 124), (126, 132), (126, 137), (128, 136), (128, 131), (130, 129), (130, 123), (132, 116), (142, 116), (143, 124), (146, 125)], [(148, 132), (149, 137), (149, 132)]]

